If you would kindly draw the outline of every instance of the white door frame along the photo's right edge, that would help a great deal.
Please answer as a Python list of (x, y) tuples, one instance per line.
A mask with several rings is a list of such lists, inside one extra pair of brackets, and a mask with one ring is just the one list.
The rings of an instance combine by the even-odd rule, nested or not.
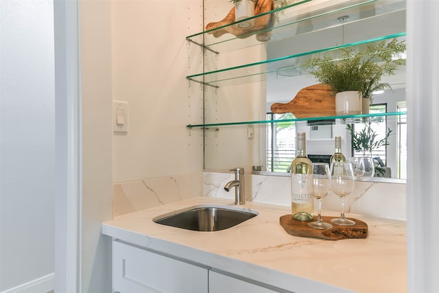
[[(407, 292), (438, 292), (438, 1), (407, 1)], [(419, 21), (423, 20), (423, 21)], [(435, 230), (437, 231), (437, 230)]]

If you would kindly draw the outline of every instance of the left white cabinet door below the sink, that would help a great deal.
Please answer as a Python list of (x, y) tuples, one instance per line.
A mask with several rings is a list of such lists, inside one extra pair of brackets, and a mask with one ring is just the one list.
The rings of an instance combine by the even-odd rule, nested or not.
[(112, 242), (112, 291), (206, 293), (208, 271), (170, 257)]

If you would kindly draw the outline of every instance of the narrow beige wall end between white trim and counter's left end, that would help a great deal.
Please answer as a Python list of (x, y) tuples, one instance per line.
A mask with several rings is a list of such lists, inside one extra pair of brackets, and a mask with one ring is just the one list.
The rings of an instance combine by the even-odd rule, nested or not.
[(111, 292), (111, 239), (101, 234), (112, 219), (111, 2), (80, 3), (81, 224), (80, 288)]

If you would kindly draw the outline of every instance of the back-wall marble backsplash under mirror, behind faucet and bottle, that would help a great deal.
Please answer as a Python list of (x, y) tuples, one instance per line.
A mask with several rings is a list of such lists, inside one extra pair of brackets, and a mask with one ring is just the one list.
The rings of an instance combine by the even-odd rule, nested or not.
[[(234, 180), (234, 174), (203, 174), (203, 194), (219, 198), (235, 199), (235, 190), (224, 190), (224, 185)], [(290, 206), (289, 176), (246, 174), (246, 200)], [(314, 204), (317, 207), (317, 204)], [(345, 198), (346, 213), (370, 215), (379, 218), (406, 220), (405, 184), (355, 181), (353, 193)], [(340, 211), (340, 198), (329, 194), (322, 200), (322, 209)]]

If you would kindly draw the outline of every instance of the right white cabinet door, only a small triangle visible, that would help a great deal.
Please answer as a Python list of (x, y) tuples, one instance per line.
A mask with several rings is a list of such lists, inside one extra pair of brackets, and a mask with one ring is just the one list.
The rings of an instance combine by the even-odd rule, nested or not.
[(254, 283), (248, 283), (236, 279), (234, 277), (220, 274), (219, 272), (209, 271), (209, 293), (274, 293), (274, 292), (286, 292), (286, 291), (273, 291), (268, 288), (256, 285)]

